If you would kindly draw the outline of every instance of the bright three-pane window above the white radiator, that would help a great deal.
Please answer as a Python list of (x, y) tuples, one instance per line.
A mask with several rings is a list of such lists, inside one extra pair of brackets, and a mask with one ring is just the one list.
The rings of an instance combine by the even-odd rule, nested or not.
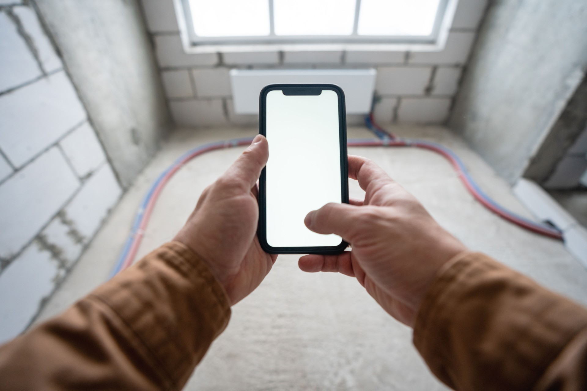
[[(458, 0), (176, 0), (192, 47), (437, 43)], [(450, 14), (450, 15), (449, 15)], [(444, 29), (444, 30), (443, 30)], [(350, 46), (349, 46), (350, 45)], [(291, 49), (291, 46), (288, 46)], [(236, 49), (239, 50), (239, 49)]]

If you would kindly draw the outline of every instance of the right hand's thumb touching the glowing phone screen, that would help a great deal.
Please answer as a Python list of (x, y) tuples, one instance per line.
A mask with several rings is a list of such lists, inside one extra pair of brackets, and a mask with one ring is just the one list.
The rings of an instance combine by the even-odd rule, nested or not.
[(360, 206), (348, 203), (327, 203), (318, 210), (312, 210), (303, 220), (306, 227), (316, 233), (334, 233), (349, 239), (359, 215)]

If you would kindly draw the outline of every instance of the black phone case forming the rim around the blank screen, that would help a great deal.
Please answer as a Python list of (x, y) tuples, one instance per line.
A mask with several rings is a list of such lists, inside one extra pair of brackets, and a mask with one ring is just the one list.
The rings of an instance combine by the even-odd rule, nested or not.
[[(345, 93), (335, 84), (269, 84), (259, 94), (259, 134), (266, 136), (265, 98), (271, 90), (282, 90), (285, 95), (319, 95), (322, 90), (333, 90), (338, 95), (338, 123), (340, 140), (340, 189), (342, 202), (349, 203), (349, 165), (346, 151), (346, 106)], [(261, 248), (269, 254), (339, 254), (348, 247), (344, 240), (338, 246), (319, 247), (273, 247), (267, 243), (266, 230), (266, 178), (265, 168), (259, 178), (259, 225), (257, 236)]]

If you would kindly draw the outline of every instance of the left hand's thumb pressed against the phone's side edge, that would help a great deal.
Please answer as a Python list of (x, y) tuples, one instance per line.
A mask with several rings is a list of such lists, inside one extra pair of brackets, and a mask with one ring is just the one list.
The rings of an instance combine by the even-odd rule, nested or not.
[(263, 135), (258, 134), (220, 180), (242, 185), (248, 191), (259, 179), (267, 159), (269, 159), (269, 144)]

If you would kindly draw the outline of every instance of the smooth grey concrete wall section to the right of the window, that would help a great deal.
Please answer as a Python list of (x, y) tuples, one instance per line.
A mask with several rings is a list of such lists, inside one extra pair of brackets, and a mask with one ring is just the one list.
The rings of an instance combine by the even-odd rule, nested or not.
[[(524, 174), (585, 77), (586, 21), (585, 0), (492, 2), (451, 125), (510, 183)], [(544, 172), (533, 171), (534, 178)]]

